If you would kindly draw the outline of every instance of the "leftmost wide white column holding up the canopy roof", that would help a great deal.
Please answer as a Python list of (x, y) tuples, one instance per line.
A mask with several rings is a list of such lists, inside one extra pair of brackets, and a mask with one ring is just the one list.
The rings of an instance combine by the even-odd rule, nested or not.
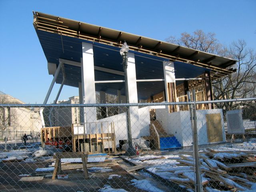
[[(82, 95), (84, 104), (96, 103), (95, 82), (94, 82), (94, 60), (92, 44), (82, 42), (83, 58), (81, 61), (82, 70)], [(85, 108), (85, 122), (96, 122), (96, 108)]]

